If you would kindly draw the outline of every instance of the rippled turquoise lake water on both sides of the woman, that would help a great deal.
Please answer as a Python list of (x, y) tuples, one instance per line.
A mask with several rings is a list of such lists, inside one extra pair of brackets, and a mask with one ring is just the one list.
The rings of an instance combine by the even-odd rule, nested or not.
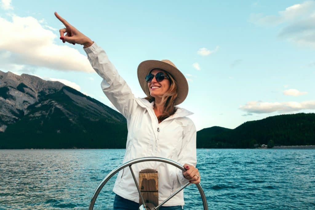
[[(0, 209), (87, 209), (124, 150), (0, 150)], [(198, 149), (209, 209), (315, 209), (315, 150)], [(94, 209), (111, 209), (113, 177)], [(196, 186), (185, 209), (202, 209)]]

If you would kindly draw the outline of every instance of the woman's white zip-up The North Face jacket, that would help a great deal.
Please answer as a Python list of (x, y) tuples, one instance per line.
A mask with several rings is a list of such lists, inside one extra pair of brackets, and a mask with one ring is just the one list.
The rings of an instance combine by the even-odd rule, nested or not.
[[(177, 108), (174, 115), (158, 123), (153, 111), (154, 102), (134, 97), (102, 48), (94, 43), (84, 50), (94, 70), (103, 78), (103, 92), (127, 119), (128, 137), (123, 162), (156, 156), (179, 162), (181, 165), (188, 163), (196, 166), (196, 128), (192, 120), (186, 117), (193, 113)], [(159, 203), (188, 182), (182, 171), (172, 165), (163, 162), (141, 162), (132, 165), (138, 183), (139, 171), (146, 168), (158, 171)], [(123, 198), (139, 202), (139, 194), (128, 167), (118, 173), (113, 191)], [(178, 205), (184, 205), (183, 191), (163, 206)]]

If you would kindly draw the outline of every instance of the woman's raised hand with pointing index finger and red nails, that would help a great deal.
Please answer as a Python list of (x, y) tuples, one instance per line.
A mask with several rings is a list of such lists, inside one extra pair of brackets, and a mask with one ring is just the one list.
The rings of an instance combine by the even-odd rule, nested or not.
[[(65, 28), (62, 28), (59, 30), (60, 32), (60, 39), (63, 43), (72, 43), (72, 44), (82, 44), (84, 45), (84, 48), (88, 48), (93, 44), (93, 41), (85, 36), (83, 33), (78, 31), (75, 27), (70, 25), (65, 19), (63, 19), (57, 12), (55, 12), (56, 18), (60, 20), (63, 25), (65, 25)], [(66, 33), (66, 34), (65, 34)]]

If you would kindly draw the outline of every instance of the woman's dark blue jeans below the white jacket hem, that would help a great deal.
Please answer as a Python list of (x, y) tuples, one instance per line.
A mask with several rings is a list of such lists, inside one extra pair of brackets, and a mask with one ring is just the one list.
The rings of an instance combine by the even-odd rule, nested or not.
[[(127, 200), (121, 196), (116, 195), (114, 200), (114, 209), (115, 210), (138, 210), (139, 203), (134, 201)], [(181, 206), (162, 206), (160, 210), (182, 210)]]

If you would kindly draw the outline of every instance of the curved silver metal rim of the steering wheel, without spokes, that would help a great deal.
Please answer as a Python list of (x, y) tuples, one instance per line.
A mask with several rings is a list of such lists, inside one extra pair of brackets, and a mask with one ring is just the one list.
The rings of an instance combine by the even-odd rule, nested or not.
[[(96, 188), (96, 190), (92, 196), (92, 199), (91, 199), (91, 202), (89, 205), (89, 210), (93, 210), (96, 198), (99, 195), (100, 191), (102, 190), (104, 185), (107, 183), (107, 181), (109, 179), (111, 179), (116, 173), (118, 173), (120, 170), (124, 169), (125, 167), (129, 167), (129, 166), (136, 164), (136, 163), (139, 163), (139, 162), (147, 162), (147, 161), (165, 162), (165, 163), (168, 163), (170, 165), (173, 165), (173, 166), (179, 168), (182, 171), (186, 171), (186, 169), (182, 165), (180, 165), (179, 163), (172, 161), (172, 160), (169, 160), (169, 159), (166, 159), (166, 158), (162, 158), (162, 157), (141, 157), (141, 158), (136, 158), (136, 159), (133, 159), (131, 161), (125, 162), (125, 163), (121, 164), (120, 166), (116, 167), (109, 174), (107, 174), (107, 176), (97, 186), (97, 188)], [(199, 193), (200, 193), (200, 196), (202, 198), (203, 209), (208, 210), (208, 203), (207, 203), (206, 196), (204, 195), (203, 189), (200, 186), (200, 184), (196, 184), (196, 186), (197, 186)]]

